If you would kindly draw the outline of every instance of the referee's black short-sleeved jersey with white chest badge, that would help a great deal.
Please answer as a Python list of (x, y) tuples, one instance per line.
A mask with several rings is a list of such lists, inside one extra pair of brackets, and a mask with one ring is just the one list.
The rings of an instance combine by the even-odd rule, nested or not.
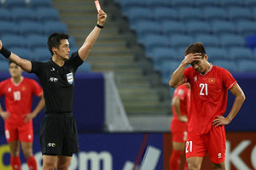
[(35, 73), (44, 90), (45, 114), (66, 114), (73, 111), (74, 74), (83, 64), (79, 52), (72, 54), (63, 66), (48, 62), (32, 61)]

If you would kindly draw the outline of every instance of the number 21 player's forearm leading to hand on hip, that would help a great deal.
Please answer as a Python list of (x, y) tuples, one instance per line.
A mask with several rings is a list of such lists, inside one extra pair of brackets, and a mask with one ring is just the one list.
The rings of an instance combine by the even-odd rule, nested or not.
[(244, 94), (240, 94), (238, 96), (236, 96), (236, 99), (232, 105), (232, 108), (230, 110), (229, 115), (226, 117), (226, 119), (231, 122), (234, 117), (236, 116), (236, 114), (238, 113), (238, 111), (241, 109), (241, 105), (243, 104), (244, 100), (245, 100), (245, 95)]

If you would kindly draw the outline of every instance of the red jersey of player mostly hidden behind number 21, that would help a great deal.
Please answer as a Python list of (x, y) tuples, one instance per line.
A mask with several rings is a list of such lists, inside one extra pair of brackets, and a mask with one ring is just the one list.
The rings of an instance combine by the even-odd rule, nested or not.
[[(190, 107), (190, 88), (186, 84), (182, 84), (178, 86), (173, 94), (173, 98), (178, 97), (180, 102), (180, 114), (182, 116), (188, 116), (189, 107)], [(174, 105), (172, 105), (172, 123), (171, 123), (171, 131), (172, 133), (187, 131), (188, 122), (180, 122), (177, 118), (177, 113), (174, 109)]]

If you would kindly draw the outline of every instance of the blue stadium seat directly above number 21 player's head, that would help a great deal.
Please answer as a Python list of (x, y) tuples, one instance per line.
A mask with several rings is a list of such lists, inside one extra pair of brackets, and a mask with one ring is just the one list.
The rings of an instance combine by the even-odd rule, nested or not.
[(219, 40), (215, 35), (203, 34), (195, 37), (196, 42), (201, 42), (205, 48), (218, 48)]

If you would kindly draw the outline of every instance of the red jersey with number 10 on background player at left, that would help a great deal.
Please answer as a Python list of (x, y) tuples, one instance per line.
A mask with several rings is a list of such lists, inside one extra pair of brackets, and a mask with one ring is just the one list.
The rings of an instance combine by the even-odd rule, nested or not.
[(33, 94), (39, 97), (43, 94), (43, 90), (38, 82), (32, 79), (21, 77), (19, 84), (15, 84), (12, 78), (0, 82), (0, 97), (5, 95), (6, 111), (10, 113), (6, 122), (24, 123), (25, 117), (22, 115), (31, 112)]

